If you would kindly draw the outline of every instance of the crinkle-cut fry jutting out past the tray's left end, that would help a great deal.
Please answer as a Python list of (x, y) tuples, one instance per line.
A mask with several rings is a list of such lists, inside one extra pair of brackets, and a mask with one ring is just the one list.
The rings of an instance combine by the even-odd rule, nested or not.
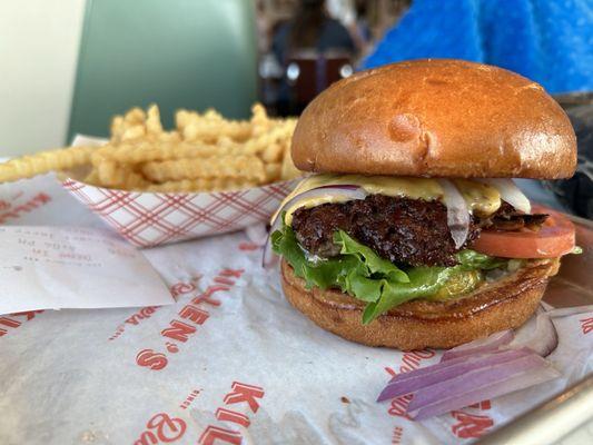
[(40, 151), (0, 164), (0, 182), (31, 178), (49, 171), (69, 170), (90, 161), (93, 147), (69, 147)]

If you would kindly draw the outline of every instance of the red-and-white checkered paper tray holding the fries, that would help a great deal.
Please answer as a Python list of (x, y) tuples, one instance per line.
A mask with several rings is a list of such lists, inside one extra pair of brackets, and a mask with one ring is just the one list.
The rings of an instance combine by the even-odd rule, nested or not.
[(72, 178), (62, 186), (128, 241), (154, 247), (268, 222), (297, 182), (192, 194), (115, 190)]

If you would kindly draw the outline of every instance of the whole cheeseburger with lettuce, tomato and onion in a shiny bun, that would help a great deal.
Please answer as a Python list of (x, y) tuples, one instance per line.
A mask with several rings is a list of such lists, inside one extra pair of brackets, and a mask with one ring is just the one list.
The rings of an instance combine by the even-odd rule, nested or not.
[(521, 326), (574, 228), (512, 178), (573, 175), (575, 135), (544, 89), (459, 60), (334, 83), (303, 112), (310, 172), (273, 219), (290, 304), (353, 342), (448, 348)]

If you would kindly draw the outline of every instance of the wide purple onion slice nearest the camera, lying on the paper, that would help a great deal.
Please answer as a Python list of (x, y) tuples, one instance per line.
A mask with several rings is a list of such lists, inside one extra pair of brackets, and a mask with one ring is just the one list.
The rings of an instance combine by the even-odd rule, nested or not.
[[(504, 355), (515, 353), (506, 350), (497, 355), (502, 358)], [(455, 378), (426, 386), (414, 395), (408, 406), (408, 414), (419, 421), (560, 376), (561, 374), (545, 359), (531, 353), (498, 365), (476, 367), (475, 370)]]

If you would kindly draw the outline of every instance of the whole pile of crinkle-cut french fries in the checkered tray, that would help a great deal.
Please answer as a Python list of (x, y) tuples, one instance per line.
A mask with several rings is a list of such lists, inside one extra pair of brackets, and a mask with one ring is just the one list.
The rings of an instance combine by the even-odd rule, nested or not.
[(191, 192), (261, 186), (302, 175), (290, 158), (296, 119), (273, 119), (256, 103), (249, 120), (214, 110), (178, 110), (162, 128), (156, 105), (132, 108), (111, 122), (109, 142), (69, 147), (0, 164), (0, 182), (87, 166), (83, 181), (123, 190)]

